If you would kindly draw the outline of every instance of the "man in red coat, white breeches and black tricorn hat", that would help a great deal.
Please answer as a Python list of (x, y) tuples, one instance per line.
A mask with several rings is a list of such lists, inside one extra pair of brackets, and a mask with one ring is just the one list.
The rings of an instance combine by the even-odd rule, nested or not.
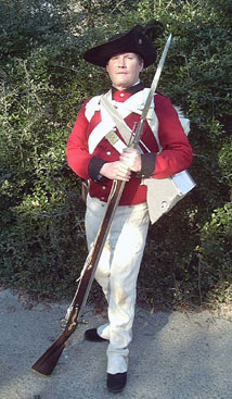
[[(106, 68), (112, 87), (104, 96), (133, 129), (149, 93), (140, 74), (156, 60), (156, 50), (144, 30), (136, 26), (88, 50), (83, 57)], [(107, 388), (113, 392), (121, 391), (127, 383), (137, 277), (150, 223), (143, 179), (171, 176), (192, 162), (192, 149), (178, 113), (160, 93), (154, 96), (139, 148), (128, 148), (126, 136), (119, 133), (102, 96), (95, 96), (83, 103), (67, 142), (69, 166), (89, 180), (86, 211), (89, 249), (104, 216), (113, 179), (126, 182), (95, 273), (107, 300), (108, 321), (85, 333), (90, 341), (108, 341)]]

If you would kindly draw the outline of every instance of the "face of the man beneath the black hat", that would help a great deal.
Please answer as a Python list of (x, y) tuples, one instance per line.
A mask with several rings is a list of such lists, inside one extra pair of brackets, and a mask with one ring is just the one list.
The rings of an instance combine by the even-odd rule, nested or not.
[(134, 52), (116, 54), (108, 60), (106, 71), (112, 85), (123, 90), (133, 86), (143, 70), (143, 61)]

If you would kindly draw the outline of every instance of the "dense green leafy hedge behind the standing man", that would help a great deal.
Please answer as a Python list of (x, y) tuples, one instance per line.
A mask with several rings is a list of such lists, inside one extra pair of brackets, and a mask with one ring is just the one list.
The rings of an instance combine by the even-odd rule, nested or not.
[[(230, 303), (232, 284), (231, 14), (228, 0), (0, 3), (0, 279), (60, 298), (75, 289), (87, 249), (80, 179), (66, 140), (83, 100), (107, 89), (83, 51), (152, 20), (158, 90), (191, 120), (197, 187), (151, 226), (139, 298), (156, 306)], [(96, 16), (98, 15), (98, 16)], [(160, 26), (159, 26), (160, 27)], [(143, 73), (151, 84), (154, 67)]]

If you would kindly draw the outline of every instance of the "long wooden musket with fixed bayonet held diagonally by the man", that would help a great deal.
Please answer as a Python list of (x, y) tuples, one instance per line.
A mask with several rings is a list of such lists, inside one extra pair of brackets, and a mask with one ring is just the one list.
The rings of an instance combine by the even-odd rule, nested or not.
[[(140, 141), (140, 137), (142, 136), (143, 125), (156, 90), (158, 79), (165, 63), (165, 59), (168, 52), (168, 48), (170, 46), (171, 35), (168, 37), (165, 49), (163, 51), (162, 58), (159, 60), (155, 76), (152, 82), (152, 86), (149, 92), (149, 96), (145, 101), (144, 109), (142, 111), (142, 115), (139, 124), (136, 126), (136, 132), (132, 133), (130, 142), (128, 145), (129, 148), (137, 148)], [(55, 365), (59, 362), (59, 359), (66, 346), (66, 341), (76, 331), (80, 317), (83, 312), (83, 308), (86, 306), (90, 288), (92, 286), (92, 282), (94, 278), (95, 270), (99, 264), (100, 257), (102, 254), (105, 240), (108, 235), (108, 230), (112, 225), (112, 221), (114, 219), (117, 205), (120, 201), (126, 182), (124, 180), (113, 180), (111, 194), (107, 201), (106, 211), (99, 228), (94, 245), (92, 250), (87, 257), (83, 269), (81, 271), (79, 277), (79, 284), (76, 289), (73, 301), (67, 310), (67, 314), (65, 319), (62, 321), (63, 333), (59, 336), (59, 338), (52, 344), (52, 346), (47, 349), (47, 351), (36, 361), (33, 365), (33, 370), (42, 375), (51, 375)]]

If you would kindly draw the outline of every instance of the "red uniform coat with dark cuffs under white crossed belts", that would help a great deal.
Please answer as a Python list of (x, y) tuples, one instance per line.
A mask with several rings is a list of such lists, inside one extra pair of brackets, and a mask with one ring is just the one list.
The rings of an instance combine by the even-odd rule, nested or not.
[[(114, 92), (113, 99), (123, 102), (130, 96), (132, 95), (127, 91), (117, 90)], [(93, 158), (106, 162), (117, 161), (119, 159), (119, 153), (105, 138), (102, 139), (92, 154), (89, 153), (88, 138), (93, 128), (101, 122), (100, 111), (94, 113), (90, 122), (86, 119), (86, 104), (89, 100), (87, 100), (80, 109), (74, 129), (68, 138), (66, 151), (67, 161), (76, 174), (81, 178), (90, 180), (90, 196), (96, 197), (102, 201), (107, 201), (112, 180), (105, 179), (103, 184), (93, 182), (89, 173), (89, 165)], [(146, 122), (141, 139), (152, 152), (157, 153), (155, 167), (151, 176), (153, 178), (164, 178), (181, 172), (191, 165), (192, 148), (183, 132), (178, 113), (170, 100), (157, 93), (154, 101), (155, 112), (158, 119), (158, 136), (163, 151), (157, 153), (158, 145)], [(134, 122), (140, 121), (140, 115), (131, 113), (125, 121), (132, 129)], [(117, 134), (120, 137), (118, 132)], [(119, 205), (142, 203), (145, 202), (145, 200), (146, 186), (141, 185), (141, 178), (139, 178), (136, 173), (132, 173), (131, 179), (126, 183)]]

